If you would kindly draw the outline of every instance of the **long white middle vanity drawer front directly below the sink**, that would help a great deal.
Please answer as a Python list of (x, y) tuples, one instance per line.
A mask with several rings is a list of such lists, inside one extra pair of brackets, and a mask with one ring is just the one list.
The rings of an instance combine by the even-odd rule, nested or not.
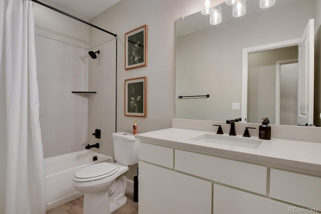
[(175, 169), (259, 194), (266, 194), (267, 167), (175, 150)]

